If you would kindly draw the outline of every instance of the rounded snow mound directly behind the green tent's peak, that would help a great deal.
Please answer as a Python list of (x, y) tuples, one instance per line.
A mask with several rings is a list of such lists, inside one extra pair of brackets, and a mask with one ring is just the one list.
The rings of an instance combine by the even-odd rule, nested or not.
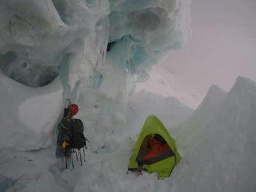
[(164, 97), (141, 90), (129, 97), (126, 111), (127, 128), (124, 131), (134, 133), (137, 130), (139, 133), (146, 118), (151, 114), (157, 115), (167, 128), (174, 127), (185, 121), (192, 112), (193, 109), (180, 103), (176, 97)]

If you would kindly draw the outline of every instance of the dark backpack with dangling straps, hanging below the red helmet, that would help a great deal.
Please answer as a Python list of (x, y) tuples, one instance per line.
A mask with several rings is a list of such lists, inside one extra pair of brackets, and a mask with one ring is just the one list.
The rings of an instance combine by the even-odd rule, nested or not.
[[(71, 120), (68, 120), (67, 118), (63, 118), (61, 119), (61, 123), (58, 124), (58, 130), (57, 149), (55, 152), (56, 158), (65, 158), (66, 169), (71, 161), (73, 169), (74, 164), (72, 154), (76, 153), (77, 161), (78, 154), (82, 166), (82, 154), (80, 150), (83, 149), (83, 156), (85, 158), (85, 149), (87, 150), (86, 141), (88, 141), (83, 134), (83, 122), (80, 119), (72, 118)], [(84, 161), (86, 162), (85, 159)]]

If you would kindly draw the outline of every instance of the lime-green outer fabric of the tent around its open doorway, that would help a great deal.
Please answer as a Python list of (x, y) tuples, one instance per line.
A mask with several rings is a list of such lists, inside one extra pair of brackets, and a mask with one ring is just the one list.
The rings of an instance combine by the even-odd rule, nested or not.
[(181, 157), (176, 149), (174, 140), (171, 138), (170, 134), (166, 130), (166, 127), (164, 127), (163, 123), (155, 115), (149, 115), (149, 117), (145, 121), (145, 124), (142, 127), (138, 140), (135, 143), (135, 149), (133, 150), (128, 170), (136, 171), (138, 169), (138, 162), (136, 162), (136, 158), (138, 156), (139, 149), (141, 148), (143, 139), (149, 134), (151, 134), (152, 137), (154, 136), (154, 134), (160, 134), (160, 136), (162, 136), (164, 140), (166, 140), (174, 155), (170, 156), (169, 158), (152, 163), (151, 165), (144, 164), (143, 169), (146, 169), (149, 173), (158, 172), (158, 178), (168, 177), (171, 174), (173, 167), (177, 165), (177, 163), (180, 161)]

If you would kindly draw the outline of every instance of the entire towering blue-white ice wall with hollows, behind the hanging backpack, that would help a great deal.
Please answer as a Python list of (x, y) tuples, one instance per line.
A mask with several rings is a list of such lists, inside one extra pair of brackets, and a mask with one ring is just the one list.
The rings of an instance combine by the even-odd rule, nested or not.
[(108, 133), (120, 133), (134, 81), (191, 39), (190, 2), (1, 1), (0, 69), (29, 87), (59, 76), (59, 104), (79, 104), (97, 150)]

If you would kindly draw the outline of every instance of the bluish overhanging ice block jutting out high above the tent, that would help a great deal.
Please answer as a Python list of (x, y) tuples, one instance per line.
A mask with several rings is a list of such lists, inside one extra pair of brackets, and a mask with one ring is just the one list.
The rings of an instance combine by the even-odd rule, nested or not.
[[(109, 42), (123, 44), (129, 73), (145, 81), (152, 65), (191, 39), (190, 1), (110, 1)], [(118, 52), (117, 52), (118, 53)], [(118, 54), (119, 55), (119, 54)]]

